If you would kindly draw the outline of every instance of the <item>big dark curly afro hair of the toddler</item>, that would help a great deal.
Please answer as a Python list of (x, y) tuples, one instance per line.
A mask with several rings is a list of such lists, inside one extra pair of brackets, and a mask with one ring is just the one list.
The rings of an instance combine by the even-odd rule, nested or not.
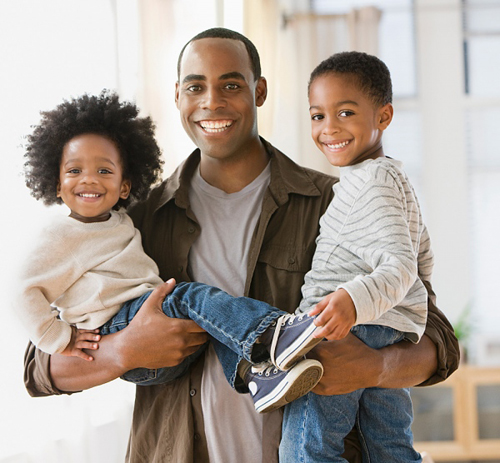
[(45, 204), (62, 203), (57, 197), (57, 185), (63, 149), (82, 134), (101, 135), (118, 148), (123, 177), (132, 188), (129, 197), (120, 199), (116, 208), (146, 199), (151, 186), (161, 180), (163, 160), (153, 121), (138, 117), (137, 106), (120, 102), (116, 93), (103, 90), (98, 96), (85, 94), (40, 114), (40, 124), (27, 137), (24, 174), (31, 195)]

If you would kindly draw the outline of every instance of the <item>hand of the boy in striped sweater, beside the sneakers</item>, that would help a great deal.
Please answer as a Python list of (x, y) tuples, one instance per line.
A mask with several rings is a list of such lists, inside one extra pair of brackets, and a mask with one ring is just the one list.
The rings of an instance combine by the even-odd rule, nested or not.
[(318, 315), (314, 324), (321, 326), (315, 331), (314, 337), (326, 338), (329, 341), (345, 338), (356, 323), (356, 308), (345, 289), (326, 296), (316, 304), (309, 315)]

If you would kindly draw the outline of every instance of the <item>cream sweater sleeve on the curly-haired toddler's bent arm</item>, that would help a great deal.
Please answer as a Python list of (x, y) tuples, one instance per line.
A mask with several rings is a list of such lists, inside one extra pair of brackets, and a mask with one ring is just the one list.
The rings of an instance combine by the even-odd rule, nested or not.
[(19, 274), (14, 310), (32, 342), (48, 354), (62, 352), (71, 339), (71, 326), (51, 304), (83, 273), (68, 241), (45, 230)]

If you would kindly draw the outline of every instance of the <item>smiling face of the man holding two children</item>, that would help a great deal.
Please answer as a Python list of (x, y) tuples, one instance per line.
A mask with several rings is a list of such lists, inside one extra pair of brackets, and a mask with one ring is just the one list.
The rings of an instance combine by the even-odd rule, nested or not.
[(182, 125), (202, 155), (230, 160), (258, 138), (257, 107), (266, 82), (255, 81), (242, 42), (206, 38), (184, 50), (175, 101)]

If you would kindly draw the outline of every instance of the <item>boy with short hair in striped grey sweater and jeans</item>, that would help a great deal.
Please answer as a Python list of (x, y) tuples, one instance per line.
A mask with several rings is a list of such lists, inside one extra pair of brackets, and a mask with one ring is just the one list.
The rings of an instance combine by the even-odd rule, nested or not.
[[(416, 343), (427, 317), (420, 278), (430, 280), (433, 254), (413, 187), (382, 149), (393, 116), (389, 70), (374, 56), (339, 53), (314, 69), (308, 92), (312, 137), (340, 182), (298, 312), (316, 315), (315, 336), (329, 340), (351, 331), (373, 348)], [(419, 462), (411, 423), (407, 389), (309, 393), (285, 408), (280, 461), (345, 461), (344, 437), (357, 425), (363, 461)]]

